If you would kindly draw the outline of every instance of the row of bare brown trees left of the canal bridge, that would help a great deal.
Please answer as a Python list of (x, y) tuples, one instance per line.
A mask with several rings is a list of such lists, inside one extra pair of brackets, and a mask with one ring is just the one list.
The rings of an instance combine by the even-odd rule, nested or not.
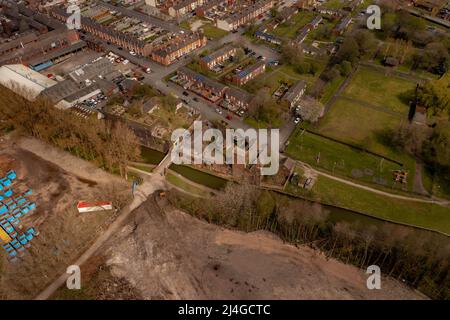
[(126, 175), (130, 161), (140, 159), (138, 138), (122, 122), (79, 117), (54, 107), (48, 99), (33, 102), (0, 86), (3, 128), (38, 138), (113, 173)]

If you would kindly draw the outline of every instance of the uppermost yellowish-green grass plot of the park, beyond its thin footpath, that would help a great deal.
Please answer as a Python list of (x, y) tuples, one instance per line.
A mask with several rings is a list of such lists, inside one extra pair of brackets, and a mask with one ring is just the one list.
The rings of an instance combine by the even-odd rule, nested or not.
[(407, 114), (409, 106), (404, 96), (414, 90), (415, 86), (412, 81), (386, 76), (369, 67), (361, 67), (343, 95)]

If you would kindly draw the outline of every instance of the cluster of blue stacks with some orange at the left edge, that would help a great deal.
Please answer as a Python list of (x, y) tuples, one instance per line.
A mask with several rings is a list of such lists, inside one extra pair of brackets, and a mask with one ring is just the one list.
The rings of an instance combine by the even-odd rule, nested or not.
[(29, 228), (24, 233), (16, 230), (16, 227), (20, 227), (21, 219), (36, 209), (36, 203), (27, 199), (33, 193), (31, 189), (22, 194), (14, 193), (12, 186), (16, 179), (15, 171), (9, 171), (0, 179), (0, 191), (3, 191), (0, 192), (0, 228), (6, 233), (4, 236), (6, 240), (2, 239), (5, 242), (9, 241), (3, 244), (3, 248), (11, 261), (23, 256), (25, 248), (31, 247), (30, 241), (38, 235), (34, 228)]

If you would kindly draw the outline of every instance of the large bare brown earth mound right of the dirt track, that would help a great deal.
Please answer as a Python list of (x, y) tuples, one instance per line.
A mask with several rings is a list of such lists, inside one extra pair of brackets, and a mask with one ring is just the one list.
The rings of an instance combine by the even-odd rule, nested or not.
[[(121, 232), (82, 267), (83, 290), (54, 299), (422, 299), (268, 232), (243, 233), (208, 224), (149, 199)], [(160, 207), (162, 206), (162, 209)]]

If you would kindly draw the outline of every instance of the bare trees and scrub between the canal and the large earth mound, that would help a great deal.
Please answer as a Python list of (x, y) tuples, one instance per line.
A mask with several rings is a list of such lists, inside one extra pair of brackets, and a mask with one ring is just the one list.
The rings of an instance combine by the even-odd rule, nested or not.
[(210, 199), (171, 191), (170, 203), (210, 223), (246, 232), (267, 230), (295, 245), (406, 282), (435, 299), (450, 298), (450, 240), (442, 235), (391, 223), (334, 222), (318, 203), (228, 184)]

